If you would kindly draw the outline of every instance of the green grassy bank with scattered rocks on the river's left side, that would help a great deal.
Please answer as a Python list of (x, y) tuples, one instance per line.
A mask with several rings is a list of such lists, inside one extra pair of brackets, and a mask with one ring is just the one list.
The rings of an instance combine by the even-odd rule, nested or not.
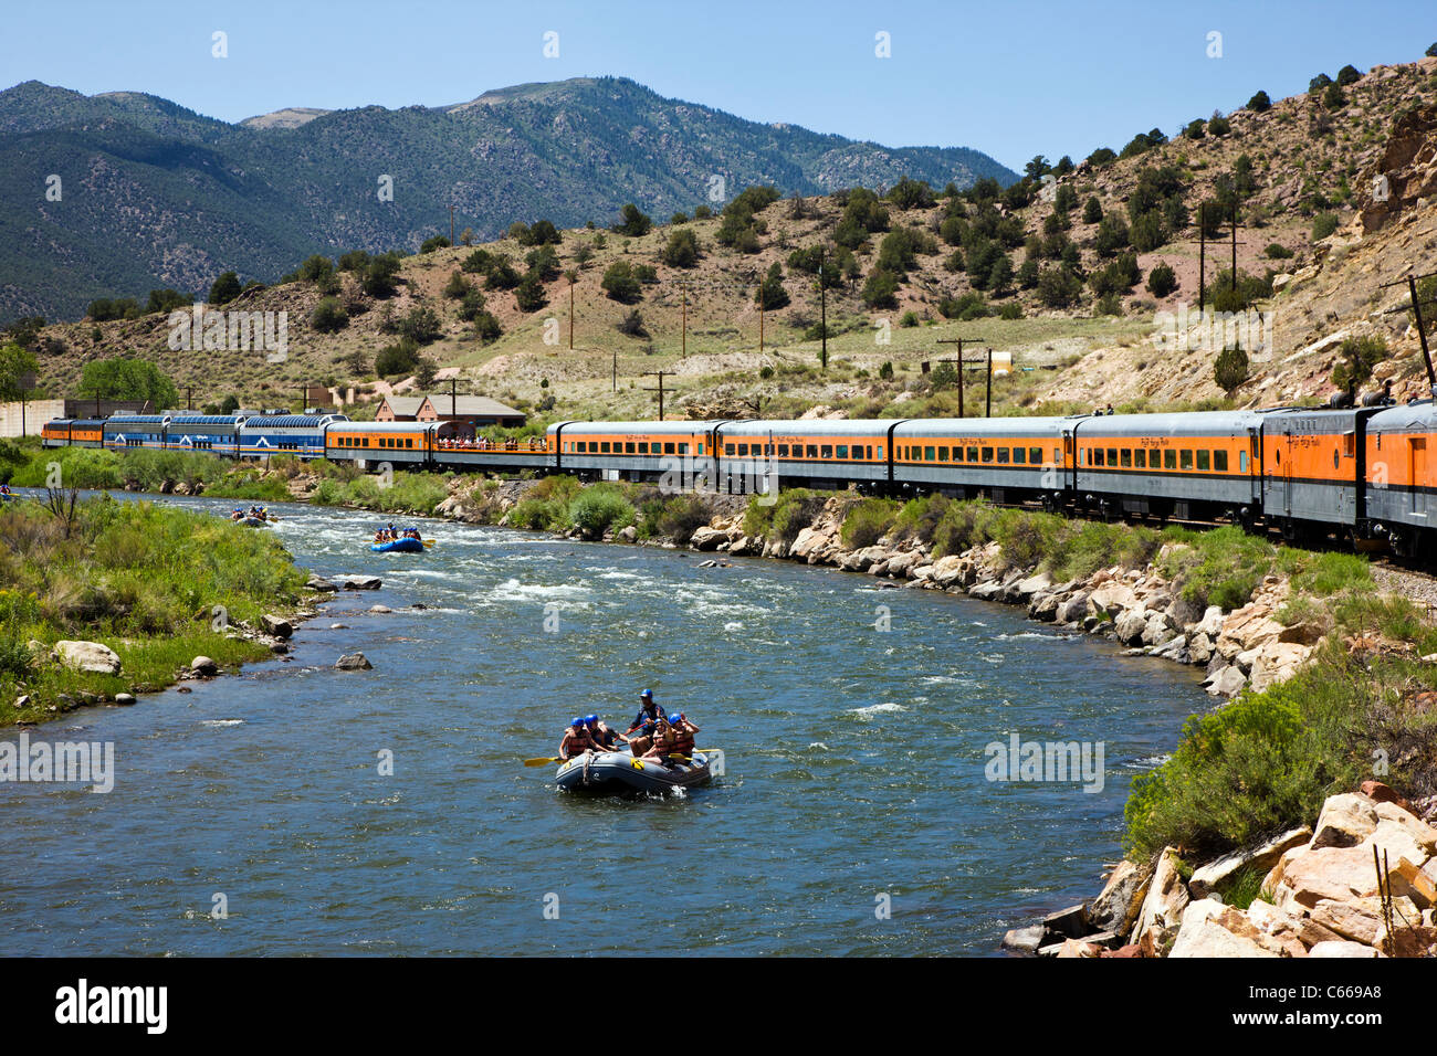
[(266, 657), (250, 628), (306, 579), (267, 533), (108, 496), (7, 503), (0, 540), (0, 724)]

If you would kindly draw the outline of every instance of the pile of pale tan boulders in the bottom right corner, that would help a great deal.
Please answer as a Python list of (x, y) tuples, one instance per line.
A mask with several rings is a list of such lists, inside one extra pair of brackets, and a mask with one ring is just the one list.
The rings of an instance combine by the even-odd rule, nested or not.
[(1003, 945), (1043, 957), (1437, 957), (1437, 803), (1381, 782), (1193, 869), (1174, 848)]

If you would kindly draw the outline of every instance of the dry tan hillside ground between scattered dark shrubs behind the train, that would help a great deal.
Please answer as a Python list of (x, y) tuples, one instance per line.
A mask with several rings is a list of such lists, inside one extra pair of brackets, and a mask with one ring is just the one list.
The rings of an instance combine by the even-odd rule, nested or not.
[[(282, 363), (266, 362), (263, 353), (233, 352), (221, 353), (217, 369), (213, 355), (167, 349), (165, 319), (155, 315), (134, 322), (47, 328), (45, 336), (53, 339), (53, 352), (42, 358), (42, 384), (65, 391), (85, 361), (129, 352), (155, 359), (181, 385), (195, 385), (197, 402), (217, 401), (231, 391), (246, 402), (293, 401), (302, 384), (358, 384), (374, 391), (375, 353), (398, 342), (399, 320), (417, 307), (428, 307), (440, 320), (440, 333), (422, 349), (424, 356), (437, 366), (456, 368), (461, 391), (484, 392), (539, 409), (543, 417), (651, 417), (657, 408), (648, 389), (657, 379), (647, 375), (657, 371), (667, 375), (670, 415), (757, 409), (775, 415), (953, 414), (956, 394), (951, 388), (935, 391), (918, 363), (951, 358), (954, 346), (935, 342), (957, 336), (1012, 352), (1017, 371), (999, 382), (996, 412), (1066, 412), (1108, 402), (1134, 409), (1221, 405), (1227, 401), (1213, 382), (1214, 352), (1184, 351), (1171, 339), (1160, 345), (1152, 335), (1158, 313), (1196, 306), (1197, 207), (1226, 193), (1224, 178), (1230, 178), (1237, 158), (1247, 155), (1250, 181), (1239, 205), (1243, 227), (1237, 263), (1257, 279), (1270, 274), (1275, 292), (1260, 296), (1256, 309), (1272, 313), (1273, 328), (1267, 348), (1252, 356), (1253, 378), (1233, 394), (1232, 402), (1326, 398), (1341, 338), (1367, 333), (1387, 338), (1391, 351), (1377, 368), (1377, 381), (1394, 378), (1394, 392), (1405, 397), (1426, 389), (1417, 336), (1408, 323), (1404, 290), (1378, 286), (1410, 267), (1431, 267), (1423, 253), (1437, 246), (1434, 73), (1437, 60), (1431, 59), (1375, 68), (1345, 86), (1342, 106), (1295, 96), (1265, 112), (1229, 115), (1229, 129), (1221, 135), (1174, 138), (1108, 164), (1079, 162), (1056, 181), (1058, 194), (1068, 197), (1062, 188), (1071, 188), (1078, 203), (1068, 214), (1061, 247), (1048, 244), (1052, 236), (1045, 234), (1045, 227), (1052, 223), (1055, 204), (1050, 194), (1036, 193), (1036, 181), (1029, 181), (1032, 200), (1026, 204), (1016, 204), (1022, 195), (1015, 193), (996, 201), (987, 193), (938, 194), (931, 204), (910, 203), (907, 208), (902, 201), (890, 201), (885, 227), (858, 244), (852, 276), (828, 292), (832, 336), (826, 372), (818, 369), (819, 342), (813, 336), (821, 313), (816, 283), (795, 267), (790, 254), (822, 244), (831, 260), (839, 260), (838, 240), (851, 234), (844, 227), (849, 200), (844, 194), (766, 205), (756, 214), (763, 230), (754, 227), (746, 246), (720, 243), (721, 217), (658, 223), (637, 237), (602, 226), (565, 230), (553, 247), (553, 277), (540, 284), (546, 303), (523, 310), (514, 290), (483, 290), (486, 309), (502, 328), (502, 336), (491, 343), (480, 341), (460, 319), (458, 302), (444, 296), (444, 286), (476, 249), (458, 246), (405, 257), (392, 297), (372, 297), (361, 289), (356, 273), (341, 272), (339, 299), (349, 319), (336, 333), (319, 333), (308, 322), (322, 296), (313, 282), (244, 293), (231, 307), (289, 312), (290, 355)], [(503, 103), (480, 99), (470, 109)], [(1152, 172), (1165, 167), (1190, 220), (1186, 227), (1165, 230), (1161, 246), (1135, 253), (1140, 282), (1114, 295), (1108, 310), (1098, 310), (1092, 276), (1134, 250), (1109, 246), (1106, 256), (1101, 251), (1099, 224), (1083, 221), (1086, 201), (1095, 198), (1104, 217), (1128, 217), (1134, 195), (1141, 198)], [(1374, 204), (1367, 188), (1384, 172), (1392, 194)], [(1315, 238), (1315, 220), (1325, 213), (1335, 231)], [(954, 218), (961, 221), (961, 230), (946, 228), (946, 221)], [(601, 217), (601, 224), (616, 221), (612, 213)], [(1036, 273), (1056, 274), (1069, 267), (1061, 260), (1068, 254), (1071, 272), (1085, 277), (1086, 284), (1079, 283), (1062, 309), (1045, 303), (1042, 284), (1025, 289), (1016, 276), (1007, 289), (976, 290), (976, 283), (992, 284), (970, 273), (974, 254), (987, 251), (973, 231), (986, 224), (1000, 226), (993, 228), (993, 241), (1004, 243), (1015, 270), (1032, 256)], [(696, 236), (701, 256), (690, 267), (670, 266), (661, 254), (671, 236), (683, 230)], [(887, 240), (904, 230), (921, 233), (918, 249), (891, 300), (871, 306), (865, 290), (875, 272), (884, 269)], [(1227, 228), (1216, 237), (1223, 241), (1209, 247), (1210, 296), (1213, 273), (1219, 266), (1226, 269), (1230, 259)], [(1269, 257), (1270, 246), (1292, 256)], [(507, 257), (519, 273), (533, 251), (510, 237), (484, 243), (483, 249)], [(951, 270), (954, 250), (969, 270)], [(292, 257), (287, 266), (297, 261), (297, 256)], [(606, 270), (616, 261), (654, 267), (654, 282), (641, 286), (634, 305), (619, 303), (602, 289)], [(1161, 263), (1173, 267), (1178, 284), (1158, 297), (1144, 283)], [(780, 269), (789, 303), (764, 315), (760, 353), (754, 282), (773, 264)], [(576, 273), (572, 352), (569, 287), (562, 277), (569, 269)], [(481, 273), (466, 277), (484, 286)], [(996, 318), (1000, 309), (1017, 318)], [(634, 336), (618, 329), (631, 310), (639, 313), (644, 330)], [(546, 342), (546, 333), (553, 343)], [(884, 338), (888, 343), (879, 343)], [(879, 376), (888, 362), (894, 365), (892, 376)], [(405, 384), (401, 378), (389, 381)], [(969, 414), (977, 405), (970, 392)]]

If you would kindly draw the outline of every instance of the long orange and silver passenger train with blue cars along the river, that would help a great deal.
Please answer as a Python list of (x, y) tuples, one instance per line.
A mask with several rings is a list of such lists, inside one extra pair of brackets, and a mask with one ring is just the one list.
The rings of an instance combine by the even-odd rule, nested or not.
[[(1013, 418), (559, 421), (489, 441), (471, 425), (343, 414), (55, 420), (46, 447), (201, 450), (361, 468), (536, 471), (589, 480), (943, 493), (1102, 517), (1232, 522), (1290, 542), (1338, 536), (1430, 550), (1437, 405), (1276, 407)], [(696, 484), (696, 481), (700, 481)]]

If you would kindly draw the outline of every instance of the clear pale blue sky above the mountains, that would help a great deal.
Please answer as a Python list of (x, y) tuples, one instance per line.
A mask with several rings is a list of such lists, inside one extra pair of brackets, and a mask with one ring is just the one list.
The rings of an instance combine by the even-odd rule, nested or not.
[[(227, 34), (228, 57), (211, 55)], [(545, 57), (545, 33), (558, 57)], [(1209, 33), (1221, 57), (1209, 57)], [(891, 57), (875, 55), (887, 33)], [(1158, 125), (1302, 92), (1345, 63), (1411, 62), (1437, 4), (319, 3), (11, 4), (0, 86), (151, 92), (226, 121), (282, 106), (427, 106), (628, 76), (665, 96), (891, 147), (974, 147), (1022, 170)]]

